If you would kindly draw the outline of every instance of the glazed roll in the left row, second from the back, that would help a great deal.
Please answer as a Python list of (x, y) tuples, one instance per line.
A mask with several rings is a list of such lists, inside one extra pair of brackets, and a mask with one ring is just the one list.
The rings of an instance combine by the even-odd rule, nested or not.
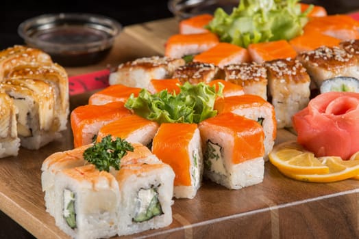
[(12, 68), (5, 79), (36, 79), (45, 81), (55, 91), (55, 113), (59, 130), (66, 130), (69, 116), (69, 79), (58, 64), (31, 62)]

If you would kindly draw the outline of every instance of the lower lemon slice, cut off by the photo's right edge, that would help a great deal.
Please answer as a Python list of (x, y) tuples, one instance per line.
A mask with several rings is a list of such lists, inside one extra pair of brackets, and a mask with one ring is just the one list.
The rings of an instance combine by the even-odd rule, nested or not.
[(306, 182), (335, 182), (353, 178), (359, 174), (359, 160), (342, 160), (337, 156), (319, 157), (318, 160), (328, 167), (328, 173), (296, 174), (281, 169), (280, 171), (289, 178)]

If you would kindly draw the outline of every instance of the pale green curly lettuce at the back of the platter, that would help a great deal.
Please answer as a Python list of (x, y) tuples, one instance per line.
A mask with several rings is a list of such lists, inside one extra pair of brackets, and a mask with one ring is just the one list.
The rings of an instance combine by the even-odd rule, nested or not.
[(206, 26), (221, 41), (246, 47), (251, 43), (290, 40), (303, 33), (308, 22), (298, 0), (241, 0), (232, 14), (217, 8)]

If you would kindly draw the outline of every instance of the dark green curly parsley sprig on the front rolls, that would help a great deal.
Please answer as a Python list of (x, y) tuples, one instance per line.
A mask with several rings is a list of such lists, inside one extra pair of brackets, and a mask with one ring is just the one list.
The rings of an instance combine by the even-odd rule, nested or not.
[(111, 135), (108, 135), (101, 142), (86, 149), (84, 159), (95, 165), (99, 171), (110, 171), (111, 166), (119, 170), (121, 158), (127, 151), (134, 152), (134, 147), (124, 139), (117, 137), (112, 140)]

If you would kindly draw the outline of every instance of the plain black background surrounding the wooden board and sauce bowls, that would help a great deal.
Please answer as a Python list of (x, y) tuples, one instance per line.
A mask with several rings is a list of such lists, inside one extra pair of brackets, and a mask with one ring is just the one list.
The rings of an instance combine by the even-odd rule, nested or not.
[[(323, 5), (328, 14), (340, 14), (359, 10), (358, 0), (322, 0), (302, 1)], [(5, 3), (5, 4), (4, 4)], [(0, 49), (23, 44), (18, 36), (17, 27), (27, 18), (40, 14), (59, 12), (86, 12), (101, 14), (119, 21), (124, 27), (149, 20), (173, 16), (167, 6), (167, 0), (60, 0), (60, 1), (24, 1), (2, 0), (0, 8)], [(30, 234), (14, 223), (0, 211), (0, 238), (33, 238)]]

